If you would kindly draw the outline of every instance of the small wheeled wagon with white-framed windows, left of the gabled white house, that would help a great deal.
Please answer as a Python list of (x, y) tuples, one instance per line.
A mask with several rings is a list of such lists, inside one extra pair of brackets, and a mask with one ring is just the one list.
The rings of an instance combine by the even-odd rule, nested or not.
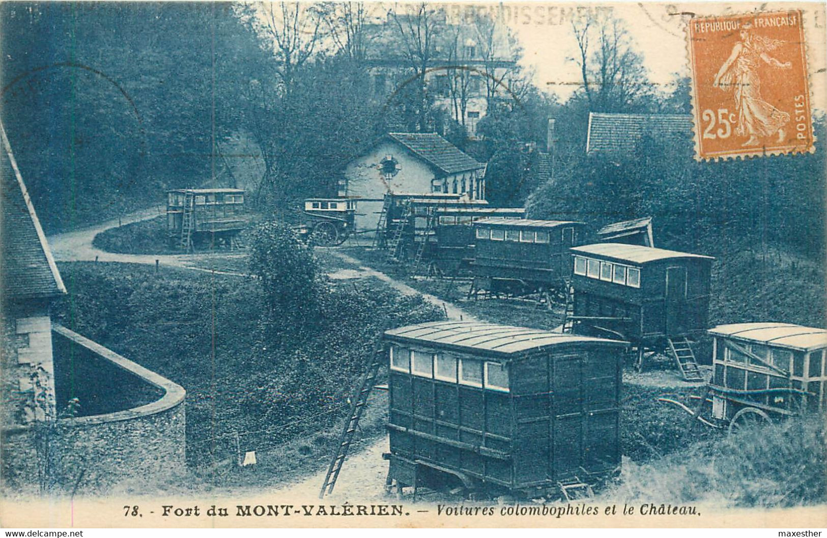
[(341, 245), (355, 232), (355, 215), (355, 199), (308, 198), (302, 212), (304, 223), (296, 231), (323, 247)]

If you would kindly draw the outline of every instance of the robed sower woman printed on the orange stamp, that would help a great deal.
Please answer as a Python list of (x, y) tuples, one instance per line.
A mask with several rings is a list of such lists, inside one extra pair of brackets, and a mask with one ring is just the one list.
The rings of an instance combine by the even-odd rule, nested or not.
[(768, 52), (782, 45), (784, 41), (756, 36), (749, 22), (741, 26), (741, 41), (732, 48), (729, 58), (715, 75), (715, 88), (729, 91), (734, 89), (735, 109), (738, 124), (735, 132), (749, 137), (743, 146), (757, 146), (758, 137), (772, 137), (778, 133), (778, 142), (784, 139), (784, 127), (790, 122), (790, 114), (782, 112), (761, 98), (761, 82), (758, 78), (758, 60), (782, 70), (792, 67), (790, 62), (782, 63)]

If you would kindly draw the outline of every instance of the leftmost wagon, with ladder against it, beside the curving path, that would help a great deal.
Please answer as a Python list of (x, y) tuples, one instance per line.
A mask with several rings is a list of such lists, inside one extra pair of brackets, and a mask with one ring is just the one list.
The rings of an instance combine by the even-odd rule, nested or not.
[(184, 250), (225, 244), (232, 247), (247, 227), (244, 190), (176, 189), (167, 191), (166, 231), (170, 244)]

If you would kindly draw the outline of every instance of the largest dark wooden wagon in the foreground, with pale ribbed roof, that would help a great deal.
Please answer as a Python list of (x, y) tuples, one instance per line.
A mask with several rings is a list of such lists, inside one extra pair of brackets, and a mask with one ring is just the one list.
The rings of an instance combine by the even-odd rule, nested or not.
[(389, 488), (571, 497), (619, 468), (627, 343), (457, 321), (385, 340)]

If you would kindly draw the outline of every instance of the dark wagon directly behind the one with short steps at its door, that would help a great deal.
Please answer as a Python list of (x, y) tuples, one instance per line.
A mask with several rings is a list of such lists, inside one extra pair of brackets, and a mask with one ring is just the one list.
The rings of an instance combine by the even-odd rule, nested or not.
[(474, 223), (474, 280), (468, 296), (539, 293), (551, 305), (571, 274), (570, 247), (584, 223), (563, 220), (482, 219)]

